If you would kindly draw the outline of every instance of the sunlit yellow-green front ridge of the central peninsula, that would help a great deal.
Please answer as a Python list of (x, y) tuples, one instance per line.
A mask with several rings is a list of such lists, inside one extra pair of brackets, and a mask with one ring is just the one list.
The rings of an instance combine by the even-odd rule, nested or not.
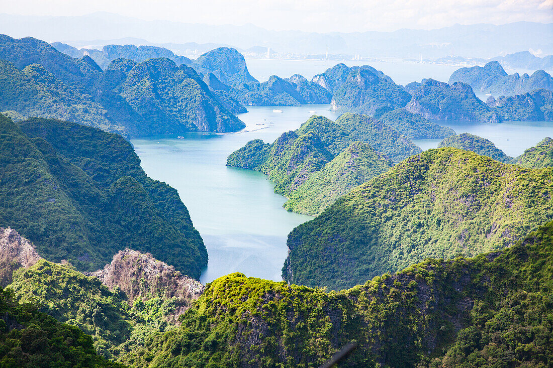
[(388, 171), (394, 164), (366, 143), (355, 141), (314, 172), (284, 203), (288, 211), (317, 215), (353, 187)]

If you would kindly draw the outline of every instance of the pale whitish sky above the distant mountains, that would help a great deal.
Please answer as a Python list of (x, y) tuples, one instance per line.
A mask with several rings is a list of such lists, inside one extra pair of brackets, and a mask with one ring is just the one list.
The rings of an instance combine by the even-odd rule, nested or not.
[(111, 12), (187, 23), (252, 23), (267, 29), (390, 31), (448, 25), (553, 22), (553, 0), (0, 0), (0, 12), (83, 15)]

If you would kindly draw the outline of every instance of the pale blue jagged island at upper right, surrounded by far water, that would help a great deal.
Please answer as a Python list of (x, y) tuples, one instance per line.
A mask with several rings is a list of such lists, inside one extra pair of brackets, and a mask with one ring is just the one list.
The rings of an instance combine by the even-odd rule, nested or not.
[(553, 78), (544, 70), (536, 70), (531, 76), (514, 73), (508, 75), (497, 61), (490, 61), (484, 66), (472, 66), (457, 69), (451, 75), (449, 84), (463, 82), (474, 91), (493, 94), (521, 94), (539, 88), (553, 90)]

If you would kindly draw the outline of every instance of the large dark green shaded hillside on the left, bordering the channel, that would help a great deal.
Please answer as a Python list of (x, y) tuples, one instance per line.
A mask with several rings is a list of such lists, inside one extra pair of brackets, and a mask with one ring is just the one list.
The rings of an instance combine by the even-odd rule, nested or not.
[(200, 234), (174, 188), (149, 178), (121, 136), (75, 123), (0, 116), (0, 226), (48, 260), (96, 270), (127, 246), (197, 278)]

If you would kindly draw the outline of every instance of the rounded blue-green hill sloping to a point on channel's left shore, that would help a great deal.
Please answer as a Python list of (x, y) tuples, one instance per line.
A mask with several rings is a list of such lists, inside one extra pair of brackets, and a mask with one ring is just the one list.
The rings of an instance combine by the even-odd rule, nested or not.
[(234, 132), (246, 126), (218, 102), (194, 70), (168, 59), (133, 66), (117, 91), (152, 123), (152, 134)]

